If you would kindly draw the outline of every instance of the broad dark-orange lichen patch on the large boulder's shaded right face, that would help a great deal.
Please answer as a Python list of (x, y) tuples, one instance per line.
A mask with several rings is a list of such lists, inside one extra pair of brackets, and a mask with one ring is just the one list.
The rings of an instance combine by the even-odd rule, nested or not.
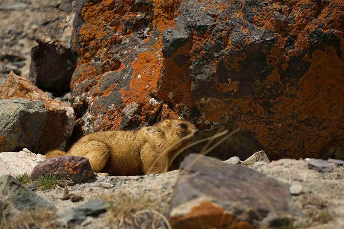
[[(344, 138), (344, 132), (338, 131), (344, 130), (344, 64), (332, 46), (324, 52), (314, 51), (308, 61), (311, 67), (298, 87), (285, 85), (283, 95), (270, 101), (273, 116), (262, 108), (263, 100), (251, 96), (212, 99), (208, 105), (197, 106), (211, 121), (234, 115), (239, 127), (255, 133), (261, 145), (277, 155), (319, 157), (319, 150), (327, 142)], [(265, 84), (271, 82), (279, 82), (277, 69)]]

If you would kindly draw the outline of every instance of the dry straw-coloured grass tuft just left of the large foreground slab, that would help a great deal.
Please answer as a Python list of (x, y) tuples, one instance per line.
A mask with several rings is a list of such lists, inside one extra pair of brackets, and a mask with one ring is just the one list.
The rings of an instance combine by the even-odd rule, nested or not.
[(167, 228), (171, 228), (170, 223), (161, 213), (165, 209), (161, 206), (164, 203), (162, 197), (135, 195), (123, 191), (103, 199), (111, 204), (106, 214), (112, 229), (155, 229), (162, 222), (161, 220), (165, 222)]

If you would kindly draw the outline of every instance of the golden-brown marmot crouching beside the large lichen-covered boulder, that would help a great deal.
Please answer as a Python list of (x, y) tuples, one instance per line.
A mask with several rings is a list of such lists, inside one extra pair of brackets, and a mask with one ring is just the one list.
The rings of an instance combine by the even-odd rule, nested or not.
[(116, 176), (163, 173), (173, 156), (197, 133), (188, 121), (164, 119), (131, 131), (104, 131), (81, 137), (64, 152), (52, 150), (46, 158), (64, 155), (88, 158), (95, 172)]

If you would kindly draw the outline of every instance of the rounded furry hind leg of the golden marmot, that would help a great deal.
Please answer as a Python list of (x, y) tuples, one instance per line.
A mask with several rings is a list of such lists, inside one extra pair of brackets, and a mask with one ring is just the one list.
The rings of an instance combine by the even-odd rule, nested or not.
[(95, 172), (100, 172), (110, 160), (109, 148), (100, 141), (89, 141), (83, 150), (83, 157), (88, 158)]

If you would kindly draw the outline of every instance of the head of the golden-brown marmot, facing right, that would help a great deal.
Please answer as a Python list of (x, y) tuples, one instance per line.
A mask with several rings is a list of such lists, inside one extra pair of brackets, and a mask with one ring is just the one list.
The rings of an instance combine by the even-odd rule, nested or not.
[(198, 129), (194, 124), (179, 119), (164, 119), (152, 127), (152, 131), (159, 134), (169, 145), (174, 144), (175, 148), (180, 147), (184, 143), (195, 137)]

